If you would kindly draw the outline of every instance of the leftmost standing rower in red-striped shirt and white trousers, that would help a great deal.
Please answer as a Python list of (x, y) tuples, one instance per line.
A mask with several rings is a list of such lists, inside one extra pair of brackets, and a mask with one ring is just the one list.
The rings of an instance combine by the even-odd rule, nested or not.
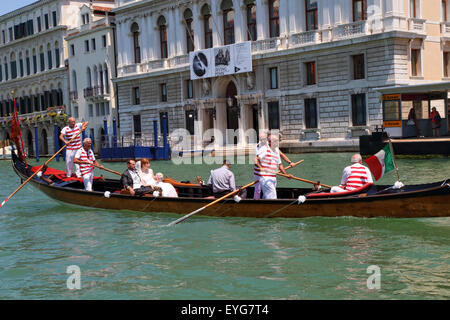
[[(73, 137), (75, 137), (79, 132), (86, 129), (88, 126), (88, 122), (83, 123), (75, 123), (75, 118), (69, 118), (69, 125), (64, 127), (61, 130), (61, 134), (59, 135), (59, 139), (67, 144)], [(65, 137), (65, 138), (64, 138)], [(67, 177), (72, 176), (73, 170), (73, 160), (75, 158), (75, 154), (81, 148), (81, 134), (74, 139), (67, 147), (66, 147), (66, 175)], [(80, 168), (76, 165), (76, 175), (77, 177), (81, 177)]]

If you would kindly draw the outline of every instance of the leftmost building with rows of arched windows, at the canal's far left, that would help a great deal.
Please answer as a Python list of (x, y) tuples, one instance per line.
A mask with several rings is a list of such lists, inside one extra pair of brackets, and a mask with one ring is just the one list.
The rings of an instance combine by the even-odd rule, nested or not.
[(0, 140), (9, 138), (12, 91), (26, 151), (53, 154), (55, 134), (70, 110), (65, 36), (82, 19), (83, 5), (112, 0), (41, 0), (0, 17)]

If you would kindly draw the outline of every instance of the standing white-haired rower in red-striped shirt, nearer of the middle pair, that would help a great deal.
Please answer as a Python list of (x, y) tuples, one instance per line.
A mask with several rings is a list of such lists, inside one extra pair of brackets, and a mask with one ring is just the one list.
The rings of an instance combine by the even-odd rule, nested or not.
[(257, 175), (263, 192), (263, 199), (277, 198), (277, 171), (288, 175), (289, 179), (293, 176), (288, 174), (281, 162), (280, 152), (278, 150), (278, 137), (271, 134), (267, 142), (256, 154)]

